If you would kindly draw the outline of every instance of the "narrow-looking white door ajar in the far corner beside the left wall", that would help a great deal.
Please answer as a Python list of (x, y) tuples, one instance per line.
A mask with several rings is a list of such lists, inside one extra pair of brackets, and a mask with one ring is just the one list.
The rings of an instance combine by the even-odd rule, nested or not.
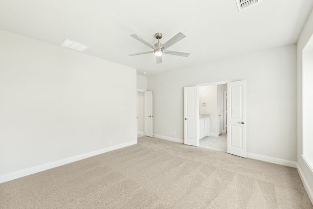
[(153, 137), (153, 115), (152, 115), (152, 91), (144, 93), (144, 115), (145, 115), (145, 129), (144, 134), (148, 137)]

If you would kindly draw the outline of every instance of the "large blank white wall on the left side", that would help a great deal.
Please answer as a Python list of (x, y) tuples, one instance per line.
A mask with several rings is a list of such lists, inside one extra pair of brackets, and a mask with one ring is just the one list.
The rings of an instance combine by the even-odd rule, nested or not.
[(136, 70), (0, 30), (0, 177), (136, 142)]

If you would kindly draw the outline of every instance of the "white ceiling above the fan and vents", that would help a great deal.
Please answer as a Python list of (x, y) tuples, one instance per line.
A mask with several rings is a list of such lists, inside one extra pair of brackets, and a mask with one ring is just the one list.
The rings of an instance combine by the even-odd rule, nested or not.
[[(149, 76), (294, 44), (312, 7), (313, 0), (262, 0), (240, 12), (236, 0), (0, 0), (0, 29), (55, 46), (67, 38), (89, 46), (82, 53)], [(164, 54), (156, 64), (153, 53), (128, 56), (151, 51), (131, 34), (155, 44), (156, 32), (161, 43), (186, 35), (168, 50), (189, 57)]]

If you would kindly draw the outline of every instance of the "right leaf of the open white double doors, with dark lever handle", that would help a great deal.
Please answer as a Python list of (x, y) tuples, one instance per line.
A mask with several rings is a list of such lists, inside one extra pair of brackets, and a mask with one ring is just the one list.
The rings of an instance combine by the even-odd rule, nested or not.
[(246, 81), (227, 83), (227, 153), (246, 158)]

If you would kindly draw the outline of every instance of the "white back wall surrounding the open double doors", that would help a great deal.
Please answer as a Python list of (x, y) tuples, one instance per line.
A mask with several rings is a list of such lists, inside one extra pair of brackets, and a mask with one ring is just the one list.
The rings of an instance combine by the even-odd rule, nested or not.
[(148, 77), (154, 133), (183, 136), (183, 87), (224, 80), (246, 80), (247, 152), (296, 161), (295, 45)]

